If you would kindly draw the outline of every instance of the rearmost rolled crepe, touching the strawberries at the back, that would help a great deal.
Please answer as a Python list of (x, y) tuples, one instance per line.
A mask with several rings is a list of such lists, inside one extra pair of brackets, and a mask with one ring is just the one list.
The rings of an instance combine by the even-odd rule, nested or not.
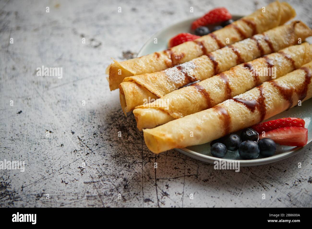
[(118, 88), (125, 77), (144, 73), (158, 72), (233, 44), (254, 34), (262, 33), (284, 24), (295, 17), (295, 10), (286, 2), (273, 2), (263, 9), (258, 9), (249, 16), (234, 21), (220, 30), (202, 36), (195, 41), (184, 42), (162, 52), (155, 52), (139, 58), (110, 64), (106, 68), (109, 74), (110, 90)]

